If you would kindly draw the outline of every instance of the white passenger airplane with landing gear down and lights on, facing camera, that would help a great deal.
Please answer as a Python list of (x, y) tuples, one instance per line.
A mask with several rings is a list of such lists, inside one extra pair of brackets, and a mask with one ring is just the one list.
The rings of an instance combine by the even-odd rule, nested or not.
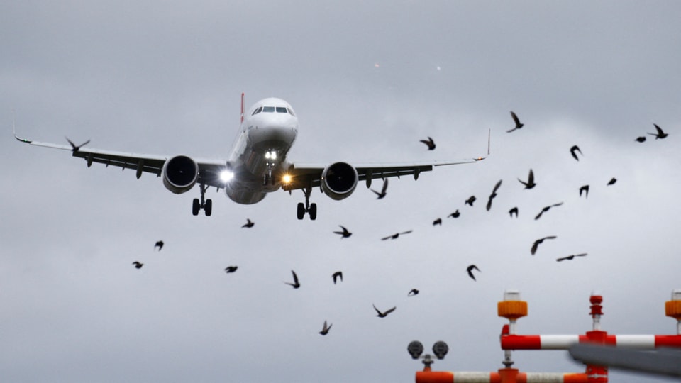
[[(223, 188), (229, 199), (238, 204), (255, 204), (268, 193), (283, 189), (301, 189), (305, 202), (297, 205), (297, 218), (305, 214), (311, 220), (317, 216), (317, 206), (310, 203), (312, 189), (319, 187), (331, 199), (345, 199), (353, 194), (358, 182), (365, 181), (370, 187), (372, 179), (413, 175), (419, 178), (421, 172), (433, 170), (435, 166), (457, 165), (483, 160), (475, 157), (464, 160), (432, 161), (392, 164), (351, 165), (348, 162), (333, 162), (312, 165), (287, 161), (287, 154), (294, 144), (299, 130), (298, 117), (292, 106), (282, 99), (267, 98), (256, 102), (244, 114), (244, 94), (241, 94), (241, 123), (228, 160), (199, 160), (187, 155), (172, 157), (146, 155), (111, 150), (87, 149), (84, 145), (41, 143), (19, 138), (14, 129), (14, 138), (29, 145), (70, 150), (73, 157), (83, 158), (87, 167), (93, 162), (106, 167), (122, 167), (135, 170), (139, 179), (144, 172), (162, 178), (166, 189), (182, 194), (199, 184), (200, 199), (192, 202), (192, 214), (197, 216), (203, 210), (210, 216), (213, 201), (206, 199), (209, 187)], [(489, 155), (489, 137), (487, 138)]]

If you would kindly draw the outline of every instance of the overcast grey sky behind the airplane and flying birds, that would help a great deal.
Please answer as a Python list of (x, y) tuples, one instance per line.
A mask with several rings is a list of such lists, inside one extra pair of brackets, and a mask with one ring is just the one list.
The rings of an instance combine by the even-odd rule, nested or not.
[[(675, 333), (664, 304), (681, 288), (680, 20), (675, 1), (5, 1), (0, 377), (412, 382), (415, 339), (449, 344), (434, 370), (495, 371), (506, 289), (528, 301), (521, 334), (591, 330), (594, 291), (605, 331)], [(297, 111), (292, 162), (475, 157), (488, 130), (492, 154), (391, 179), (381, 200), (363, 184), (343, 201), (314, 190), (316, 221), (297, 220), (301, 191), (241, 206), (212, 189), (213, 216), (195, 217), (198, 187), (175, 195), (11, 135), (15, 110), (34, 140), (226, 159), (242, 91), (247, 106), (276, 96)], [(506, 133), (511, 110), (525, 126)], [(668, 138), (647, 135), (653, 123)], [(537, 186), (524, 190), (529, 169)], [(546, 235), (558, 238), (531, 255)], [(300, 289), (283, 283), (291, 270)], [(372, 304), (397, 309), (377, 318)], [(565, 351), (513, 359), (584, 371)]]

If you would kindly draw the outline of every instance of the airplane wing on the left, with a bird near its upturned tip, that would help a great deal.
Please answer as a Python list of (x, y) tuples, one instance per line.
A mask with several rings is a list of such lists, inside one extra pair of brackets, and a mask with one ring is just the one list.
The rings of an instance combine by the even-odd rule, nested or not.
[[(169, 157), (160, 155), (145, 155), (131, 152), (116, 152), (112, 150), (88, 149), (82, 148), (83, 145), (59, 145), (54, 143), (41, 143), (26, 138), (17, 137), (14, 133), (14, 138), (33, 146), (42, 146), (44, 148), (54, 148), (60, 150), (69, 150), (73, 157), (79, 157), (85, 160), (87, 167), (92, 166), (92, 163), (100, 163), (109, 166), (121, 167), (122, 170), (135, 170), (137, 178), (142, 177), (143, 172), (156, 174), (156, 177), (161, 176), (163, 165)], [(195, 160), (199, 165), (199, 183), (203, 183), (210, 187), (223, 187), (223, 183), (219, 180), (219, 174), (226, 167), (226, 162), (221, 160)]]

